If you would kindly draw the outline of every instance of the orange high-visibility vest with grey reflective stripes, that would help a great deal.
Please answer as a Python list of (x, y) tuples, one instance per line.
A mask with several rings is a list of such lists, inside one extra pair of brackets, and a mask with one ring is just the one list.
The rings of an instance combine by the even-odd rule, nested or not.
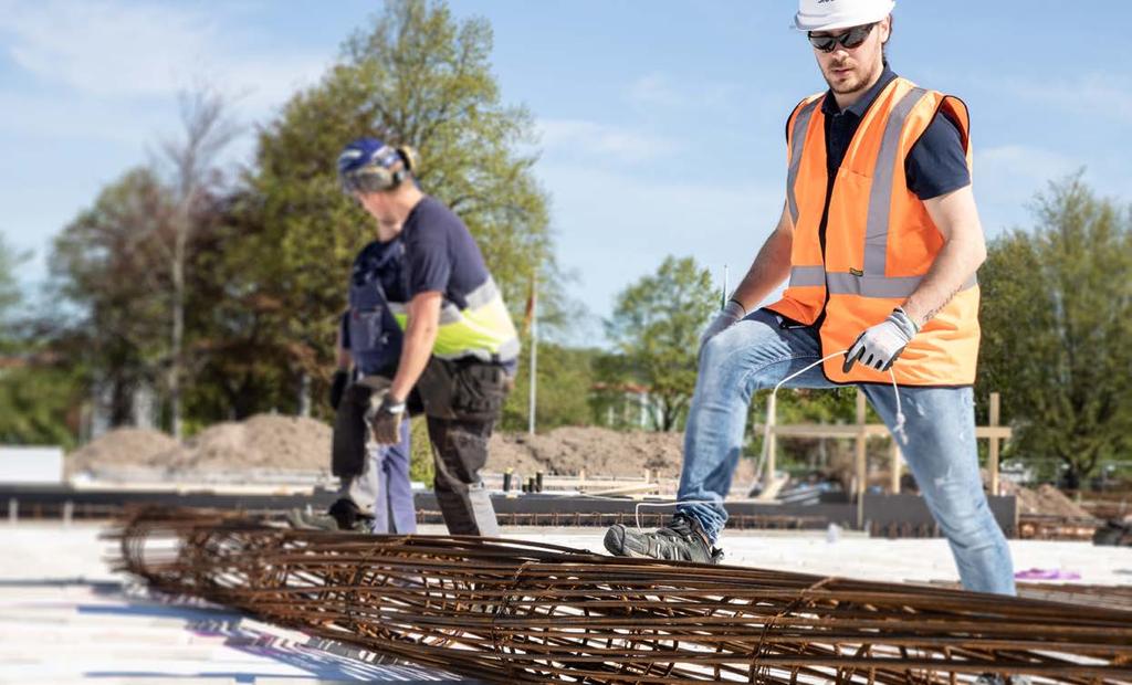
[[(787, 204), (794, 220), (790, 283), (770, 309), (818, 329), (822, 356), (848, 349), (858, 335), (902, 305), (927, 274), (943, 237), (924, 203), (908, 189), (904, 159), (936, 112), (955, 122), (971, 166), (970, 121), (958, 99), (895, 78), (860, 121), (833, 181), (827, 172), (823, 95), (804, 100), (788, 123)], [(818, 230), (823, 211), (825, 254)], [(971, 276), (951, 302), (912, 339), (892, 366), (904, 385), (970, 385), (979, 351), (979, 286)], [(843, 358), (823, 365), (834, 383), (889, 383), (864, 365), (841, 371)]]

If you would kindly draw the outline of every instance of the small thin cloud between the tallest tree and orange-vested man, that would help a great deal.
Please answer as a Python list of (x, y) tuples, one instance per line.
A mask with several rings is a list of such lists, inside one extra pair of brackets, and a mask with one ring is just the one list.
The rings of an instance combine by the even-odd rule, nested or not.
[(600, 157), (637, 163), (677, 152), (679, 142), (582, 119), (541, 119), (539, 138), (548, 155), (564, 159)]

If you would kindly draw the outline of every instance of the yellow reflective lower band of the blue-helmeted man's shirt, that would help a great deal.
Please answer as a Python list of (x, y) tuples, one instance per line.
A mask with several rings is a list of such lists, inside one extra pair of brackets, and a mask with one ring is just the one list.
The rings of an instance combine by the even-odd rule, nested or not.
[[(440, 306), (440, 327), (432, 354), (441, 359), (474, 357), (489, 362), (518, 357), (518, 334), (495, 280), (488, 276), (482, 285), (468, 293), (466, 302), (463, 311), (447, 300)], [(409, 320), (405, 307), (391, 305), (391, 310), (405, 327)]]

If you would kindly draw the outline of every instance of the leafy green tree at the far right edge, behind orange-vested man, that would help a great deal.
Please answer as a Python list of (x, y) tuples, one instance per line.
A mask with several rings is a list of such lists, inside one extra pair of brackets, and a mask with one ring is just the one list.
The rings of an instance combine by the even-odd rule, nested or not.
[(1132, 446), (1132, 213), (1078, 174), (1037, 197), (1035, 219), (979, 272), (979, 396), (1002, 393), (1013, 454), (1056, 457), (1075, 486)]

